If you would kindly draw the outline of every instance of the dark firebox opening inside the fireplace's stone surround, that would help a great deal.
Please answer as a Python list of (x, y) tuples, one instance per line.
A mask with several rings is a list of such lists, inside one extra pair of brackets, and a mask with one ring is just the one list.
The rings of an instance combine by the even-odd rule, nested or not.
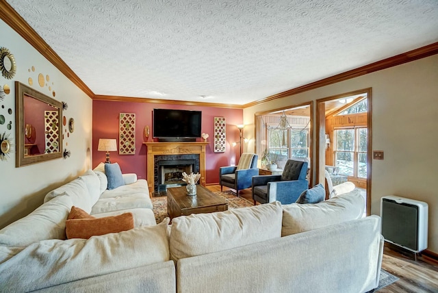
[(158, 162), (158, 192), (166, 191), (169, 187), (185, 186), (183, 173), (194, 172), (194, 160), (168, 160)]

